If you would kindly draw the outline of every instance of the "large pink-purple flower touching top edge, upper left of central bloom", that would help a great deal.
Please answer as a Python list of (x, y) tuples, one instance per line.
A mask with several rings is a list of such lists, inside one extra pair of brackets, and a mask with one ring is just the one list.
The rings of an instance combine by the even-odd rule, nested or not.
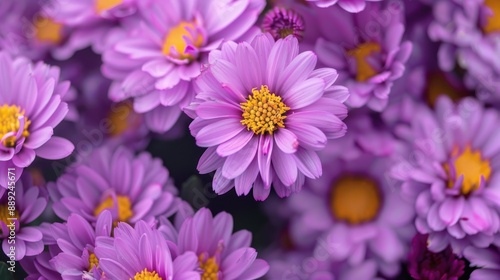
[(141, 10), (137, 28), (111, 36), (102, 68), (114, 80), (110, 98), (133, 98), (146, 125), (166, 132), (192, 101), (191, 80), (208, 52), (254, 30), (264, 5), (263, 0), (155, 1)]

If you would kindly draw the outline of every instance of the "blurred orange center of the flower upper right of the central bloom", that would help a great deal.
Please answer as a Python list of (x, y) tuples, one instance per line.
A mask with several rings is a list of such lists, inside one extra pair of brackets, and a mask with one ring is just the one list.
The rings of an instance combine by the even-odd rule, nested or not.
[(374, 52), (380, 52), (380, 45), (377, 43), (363, 43), (357, 48), (350, 50), (347, 54), (356, 60), (357, 74), (356, 80), (364, 82), (377, 74), (373, 66), (367, 61), (367, 57)]

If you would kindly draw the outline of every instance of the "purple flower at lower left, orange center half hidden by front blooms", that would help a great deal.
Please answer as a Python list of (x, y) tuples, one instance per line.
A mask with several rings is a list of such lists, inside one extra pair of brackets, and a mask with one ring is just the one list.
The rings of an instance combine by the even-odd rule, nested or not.
[(168, 176), (148, 153), (134, 156), (123, 147), (103, 147), (69, 166), (48, 189), (54, 212), (64, 220), (76, 213), (93, 222), (109, 209), (115, 223), (154, 222), (177, 210), (176, 188)]

